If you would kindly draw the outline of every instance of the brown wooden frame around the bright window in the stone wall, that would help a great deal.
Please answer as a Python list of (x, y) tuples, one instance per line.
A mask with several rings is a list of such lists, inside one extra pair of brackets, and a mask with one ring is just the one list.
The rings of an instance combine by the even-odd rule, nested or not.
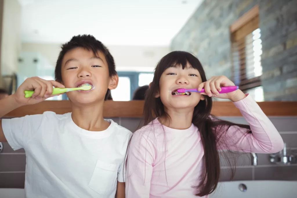
[[(230, 36), (231, 36), (231, 42), (232, 42), (231, 59), (233, 62), (232, 64), (233, 81), (235, 80), (235, 77), (236, 77), (235, 65), (233, 60), (233, 53), (234, 53), (233, 44), (237, 43), (241, 39), (244, 40), (245, 37), (251, 33), (249, 26), (259, 28), (259, 6), (258, 5), (255, 5), (252, 9), (250, 9), (248, 12), (242, 15), (237, 21), (235, 21), (230, 26)], [(242, 51), (242, 50), (245, 51), (246, 49), (245, 43), (242, 42), (242, 44), (238, 46), (238, 48), (239, 49), (237, 49), (236, 51)], [(243, 78), (247, 77), (247, 70), (246, 70), (245, 59), (240, 59), (240, 57), (239, 57), (239, 70), (240, 70), (239, 72), (240, 80), (239, 80), (238, 86), (241, 90), (247, 91), (248, 89), (261, 86), (260, 76), (252, 79), (242, 80), (242, 76)]]

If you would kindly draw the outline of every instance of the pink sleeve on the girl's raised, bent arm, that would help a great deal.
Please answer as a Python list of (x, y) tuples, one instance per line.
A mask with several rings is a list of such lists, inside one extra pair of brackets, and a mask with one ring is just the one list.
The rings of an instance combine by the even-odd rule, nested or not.
[[(259, 105), (250, 95), (234, 102), (242, 116), (249, 123), (252, 133), (246, 133), (247, 129), (231, 126), (225, 135), (225, 141), (230, 150), (277, 153), (284, 148), (284, 142), (277, 129), (264, 114)], [(224, 146), (221, 149), (226, 149)]]

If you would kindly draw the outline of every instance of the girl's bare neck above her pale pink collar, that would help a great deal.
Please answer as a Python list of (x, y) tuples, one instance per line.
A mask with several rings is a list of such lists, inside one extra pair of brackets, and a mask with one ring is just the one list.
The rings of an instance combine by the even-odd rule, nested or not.
[(192, 125), (194, 109), (165, 109), (168, 118), (160, 118), (162, 125), (173, 129), (187, 129)]

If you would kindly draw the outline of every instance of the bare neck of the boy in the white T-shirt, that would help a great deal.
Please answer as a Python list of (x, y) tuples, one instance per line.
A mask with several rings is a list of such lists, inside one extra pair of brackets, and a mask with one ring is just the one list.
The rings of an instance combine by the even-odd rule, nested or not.
[(88, 131), (104, 131), (110, 125), (103, 118), (103, 103), (88, 106), (72, 106), (72, 120), (80, 128)]

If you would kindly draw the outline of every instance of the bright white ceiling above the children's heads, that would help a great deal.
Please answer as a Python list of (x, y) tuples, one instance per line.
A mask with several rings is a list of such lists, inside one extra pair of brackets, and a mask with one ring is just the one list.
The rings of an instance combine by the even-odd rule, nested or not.
[(169, 45), (203, 0), (19, 0), (22, 41), (93, 34), (106, 45)]

